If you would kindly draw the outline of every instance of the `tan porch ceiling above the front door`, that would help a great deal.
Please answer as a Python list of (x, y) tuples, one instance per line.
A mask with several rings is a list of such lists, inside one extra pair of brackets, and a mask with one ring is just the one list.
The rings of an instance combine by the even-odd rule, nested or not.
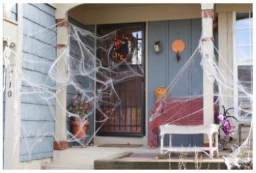
[(115, 24), (201, 18), (197, 4), (83, 4), (69, 11), (82, 24)]

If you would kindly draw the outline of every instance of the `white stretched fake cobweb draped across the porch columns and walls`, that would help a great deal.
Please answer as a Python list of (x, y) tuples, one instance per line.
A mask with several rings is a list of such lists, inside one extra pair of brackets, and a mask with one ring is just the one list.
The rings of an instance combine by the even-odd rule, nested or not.
[[(51, 57), (49, 55), (53, 55), (53, 46), (56, 46), (57, 38), (46, 30), (57, 32), (57, 27), (52, 26), (45, 30), (24, 34), (22, 58), (9, 48), (9, 45), (5, 46), (3, 53), (5, 76), (12, 81), (11, 85), (4, 83), (3, 88), (6, 92), (11, 92), (11, 95), (17, 96), (17, 98), (21, 97), (21, 100), (15, 99), (15, 104), (13, 104), (13, 112), (16, 116), (15, 123), (20, 124), (21, 113), (27, 116), (25, 117), (27, 124), (24, 123), (20, 126), (21, 131), (14, 129), (15, 134), (17, 134), (14, 138), (15, 141), (18, 141), (19, 138), (23, 139), (22, 145), (25, 146), (26, 151), (24, 152), (28, 155), (29, 160), (32, 160), (34, 149), (44, 141), (45, 137), (54, 137), (55, 141), (59, 141), (55, 131), (61, 131), (63, 128), (61, 122), (58, 121), (61, 118), (64, 120), (76, 119), (83, 123), (87, 119), (94, 119), (98, 126), (90, 135), (84, 134), (82, 137), (77, 137), (77, 134), (73, 134), (70, 129), (66, 131), (65, 135), (69, 143), (78, 143), (83, 147), (89, 145), (96, 133), (104, 126), (104, 123), (109, 118), (113, 118), (114, 112), (123, 113), (121, 111), (122, 102), (117, 94), (117, 84), (144, 76), (141, 65), (133, 65), (133, 61), (113, 61), (113, 46), (120, 31), (110, 32), (104, 36), (95, 36), (94, 33), (69, 23), (68, 34), (60, 36), (67, 37), (65, 46), (61, 49), (57, 48), (57, 57)], [(38, 44), (36, 40), (49, 44)], [(38, 47), (30, 50), (26, 44), (31, 43), (38, 44)], [(131, 47), (128, 46), (127, 48), (130, 48), (127, 50), (128, 52), (132, 51)], [(177, 65), (174, 65), (174, 73), (168, 74), (171, 82), (164, 86), (167, 96), (156, 99), (158, 106), (154, 110), (154, 114), (150, 116), (150, 123), (154, 124), (157, 121), (158, 125), (199, 125), (203, 123), (203, 111), (206, 110), (207, 112), (207, 109), (214, 109), (214, 114), (209, 116), (215, 117), (212, 120), (218, 123), (218, 113), (223, 113), (221, 106), (225, 108), (236, 106), (236, 111), (229, 111), (228, 115), (230, 116), (243, 119), (251, 118), (251, 86), (245, 85), (239, 80), (234, 82), (232, 69), (226, 63), (226, 57), (220, 55), (218, 48), (214, 47), (215, 57), (211, 57), (212, 55), (210, 55), (209, 50), (205, 49), (202, 41), (199, 41), (198, 46), (194, 49), (188, 57), (181, 53), (181, 60), (177, 62)], [(135, 55), (135, 53), (136, 50), (133, 50), (131, 54)], [(174, 56), (173, 59), (176, 57)], [(11, 61), (15, 61), (14, 67), (11, 65)], [(141, 60), (137, 59), (136, 61)], [(22, 69), (19, 68), (19, 65), (22, 65)], [(220, 66), (222, 67), (220, 68)], [(250, 69), (242, 67), (241, 70), (243, 71), (242, 78), (252, 75)], [(38, 75), (34, 75), (34, 72)], [(203, 94), (203, 90), (205, 90), (203, 89), (203, 82), (205, 80), (210, 83), (205, 87), (212, 88), (212, 94), (209, 96)], [(22, 88), (18, 87), (20, 82)], [(63, 105), (63, 99), (66, 99), (65, 94), (68, 97), (67, 88), (79, 93), (79, 96), (72, 96), (73, 100), (78, 97), (83, 98), (82, 102), (88, 103), (82, 116), (79, 112), (71, 111), (71, 102)], [(238, 95), (234, 94), (235, 88)], [(238, 100), (238, 98), (243, 99)], [(212, 102), (205, 105), (203, 99), (210, 99)], [(239, 104), (234, 105), (234, 100)], [(44, 108), (44, 112), (30, 112), (36, 110), (36, 106), (32, 110), (25, 107), (22, 107), (23, 110), (19, 110), (17, 105), (20, 101), (22, 103), (33, 102), (34, 105), (40, 104)], [(77, 101), (73, 102), (77, 104)], [(24, 113), (24, 110), (27, 112)], [(59, 117), (57, 114), (61, 114), (63, 117)], [(100, 114), (101, 118), (97, 119), (96, 114)], [(34, 129), (28, 129), (26, 127), (29, 126), (29, 120), (34, 120), (33, 116), (44, 123), (39, 123)], [(232, 137), (235, 138), (238, 123), (234, 118), (228, 119), (232, 124), (232, 131), (229, 135), (233, 135)], [(55, 129), (51, 129), (49, 125)], [(84, 125), (80, 125), (79, 129), (83, 127)], [(245, 142), (225, 158), (228, 168), (239, 167), (241, 163), (252, 160), (251, 133), (252, 125)], [(223, 137), (223, 133), (221, 134)]]

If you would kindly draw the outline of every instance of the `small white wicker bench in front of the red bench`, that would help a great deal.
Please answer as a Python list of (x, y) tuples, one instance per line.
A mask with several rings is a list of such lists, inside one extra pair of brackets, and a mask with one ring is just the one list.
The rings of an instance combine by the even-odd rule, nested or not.
[[(161, 154), (167, 152), (204, 152), (209, 155), (212, 159), (214, 156), (214, 151), (216, 151), (217, 157), (219, 157), (218, 151), (218, 129), (219, 125), (210, 124), (210, 125), (162, 125), (160, 126), (160, 137), (161, 145), (160, 151)], [(173, 147), (172, 146), (172, 135), (173, 134), (205, 134), (209, 139), (209, 147)], [(164, 146), (164, 135), (169, 135), (169, 146)], [(215, 147), (212, 146), (212, 136), (214, 135)], [(209, 151), (209, 153), (207, 153)]]

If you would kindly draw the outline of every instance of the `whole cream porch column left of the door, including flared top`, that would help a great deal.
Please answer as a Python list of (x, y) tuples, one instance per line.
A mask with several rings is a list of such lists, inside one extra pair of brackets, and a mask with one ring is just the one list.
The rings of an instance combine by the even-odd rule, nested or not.
[[(59, 58), (63, 51), (68, 51), (68, 11), (73, 7), (79, 5), (79, 3), (55, 3), (51, 4), (56, 7), (56, 23), (57, 23), (57, 58)], [(65, 79), (67, 76), (67, 65), (65, 58), (62, 57), (57, 61), (57, 77), (59, 79)], [(59, 81), (57, 79), (57, 81)], [(55, 108), (55, 143), (54, 149), (66, 149), (67, 148), (67, 129), (66, 129), (66, 108), (67, 108), (67, 87), (65, 82), (57, 82), (56, 108)]]

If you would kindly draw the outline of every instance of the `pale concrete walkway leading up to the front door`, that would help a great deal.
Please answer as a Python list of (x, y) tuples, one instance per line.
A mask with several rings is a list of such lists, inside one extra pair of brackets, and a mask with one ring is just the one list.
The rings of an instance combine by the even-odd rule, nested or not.
[(97, 147), (94, 145), (86, 148), (70, 147), (63, 151), (53, 151), (53, 162), (42, 166), (42, 169), (94, 169), (94, 160), (123, 152), (155, 153), (158, 155), (160, 149), (149, 149), (148, 146)]

